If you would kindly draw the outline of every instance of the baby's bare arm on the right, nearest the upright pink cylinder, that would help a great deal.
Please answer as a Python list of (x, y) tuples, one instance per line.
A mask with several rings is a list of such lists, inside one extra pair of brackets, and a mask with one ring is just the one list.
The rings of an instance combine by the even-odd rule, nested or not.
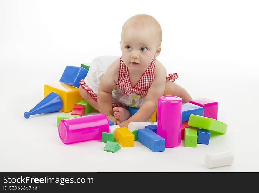
[(155, 78), (147, 92), (145, 102), (126, 123), (121, 123), (123, 124), (122, 126), (127, 127), (126, 125), (130, 122), (145, 122), (151, 117), (156, 110), (157, 99), (164, 94), (166, 75), (165, 67), (157, 62), (155, 65)]

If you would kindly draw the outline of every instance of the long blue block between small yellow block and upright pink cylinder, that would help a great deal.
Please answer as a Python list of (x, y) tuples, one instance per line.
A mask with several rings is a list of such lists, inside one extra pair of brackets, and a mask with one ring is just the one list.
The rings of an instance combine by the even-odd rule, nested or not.
[(138, 141), (153, 152), (165, 151), (165, 139), (150, 129), (139, 129)]

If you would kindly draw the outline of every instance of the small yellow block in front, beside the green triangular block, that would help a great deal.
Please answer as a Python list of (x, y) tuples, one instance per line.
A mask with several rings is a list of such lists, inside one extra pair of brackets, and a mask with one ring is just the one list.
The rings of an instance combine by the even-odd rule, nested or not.
[(116, 128), (115, 138), (122, 147), (134, 146), (134, 135), (127, 127)]

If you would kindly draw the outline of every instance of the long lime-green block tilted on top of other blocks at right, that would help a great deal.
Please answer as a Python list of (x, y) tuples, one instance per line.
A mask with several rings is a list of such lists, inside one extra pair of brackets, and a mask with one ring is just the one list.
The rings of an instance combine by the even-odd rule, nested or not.
[(198, 127), (198, 128), (207, 129), (210, 131), (219, 132), (222, 134), (226, 133), (227, 127), (228, 127), (227, 124), (220, 122), (216, 119), (202, 117), (199, 115), (190, 115), (188, 125), (192, 127)]

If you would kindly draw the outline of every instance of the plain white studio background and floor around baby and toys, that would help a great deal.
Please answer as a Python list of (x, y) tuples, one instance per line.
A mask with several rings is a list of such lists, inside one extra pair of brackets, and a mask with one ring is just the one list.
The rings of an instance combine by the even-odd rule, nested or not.
[[(169, 4), (170, 2), (170, 4)], [(258, 1), (0, 1), (1, 172), (259, 172)], [(23, 117), (67, 65), (120, 55), (124, 22), (150, 14), (162, 27), (158, 60), (196, 98), (218, 102), (227, 133), (197, 148), (154, 153), (135, 141), (65, 145), (60, 112)], [(68, 113), (69, 114), (69, 113)], [(207, 154), (231, 151), (231, 166), (207, 169)]]

